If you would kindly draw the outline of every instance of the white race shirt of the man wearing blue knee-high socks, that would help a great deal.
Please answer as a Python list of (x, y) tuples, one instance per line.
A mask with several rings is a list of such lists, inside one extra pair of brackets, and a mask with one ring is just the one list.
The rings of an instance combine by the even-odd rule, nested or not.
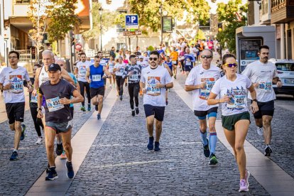
[(195, 89), (192, 91), (193, 109), (197, 111), (207, 111), (212, 107), (218, 107), (219, 104), (207, 105), (207, 99), (214, 83), (221, 77), (219, 67), (210, 65), (209, 70), (205, 70), (202, 64), (193, 67), (190, 71), (185, 85), (201, 85), (206, 82), (205, 89)]

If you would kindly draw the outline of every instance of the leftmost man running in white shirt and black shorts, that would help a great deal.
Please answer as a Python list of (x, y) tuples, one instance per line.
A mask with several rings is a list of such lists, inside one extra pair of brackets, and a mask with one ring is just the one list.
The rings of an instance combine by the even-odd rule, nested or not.
[(19, 53), (9, 52), (9, 65), (0, 74), (0, 89), (3, 90), (6, 113), (9, 119), (9, 128), (14, 132), (14, 148), (10, 160), (18, 159), (19, 141), (25, 138), (26, 125), (23, 122), (25, 110), (25, 96), (23, 80), (28, 82), (28, 92), (33, 91), (33, 85), (26, 68), (18, 66)]

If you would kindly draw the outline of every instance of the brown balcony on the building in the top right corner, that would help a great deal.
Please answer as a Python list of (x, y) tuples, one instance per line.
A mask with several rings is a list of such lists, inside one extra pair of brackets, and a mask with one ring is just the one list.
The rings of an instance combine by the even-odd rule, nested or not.
[(294, 20), (294, 1), (271, 0), (271, 23), (288, 23)]

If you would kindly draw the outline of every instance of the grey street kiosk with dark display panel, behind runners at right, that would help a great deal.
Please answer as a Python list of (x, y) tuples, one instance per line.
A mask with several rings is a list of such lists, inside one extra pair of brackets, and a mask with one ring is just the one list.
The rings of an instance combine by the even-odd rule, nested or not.
[(241, 26), (236, 29), (236, 58), (238, 60), (238, 72), (256, 60), (258, 48), (268, 45), (269, 58), (276, 58), (276, 29), (274, 26)]

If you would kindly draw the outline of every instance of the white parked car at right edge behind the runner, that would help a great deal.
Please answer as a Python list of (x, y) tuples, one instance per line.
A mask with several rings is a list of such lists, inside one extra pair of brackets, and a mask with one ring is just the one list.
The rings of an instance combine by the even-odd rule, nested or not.
[(277, 88), (273, 85), (276, 94), (292, 94), (294, 96), (294, 60), (268, 60), (276, 65), (278, 77), (283, 83), (283, 87)]

